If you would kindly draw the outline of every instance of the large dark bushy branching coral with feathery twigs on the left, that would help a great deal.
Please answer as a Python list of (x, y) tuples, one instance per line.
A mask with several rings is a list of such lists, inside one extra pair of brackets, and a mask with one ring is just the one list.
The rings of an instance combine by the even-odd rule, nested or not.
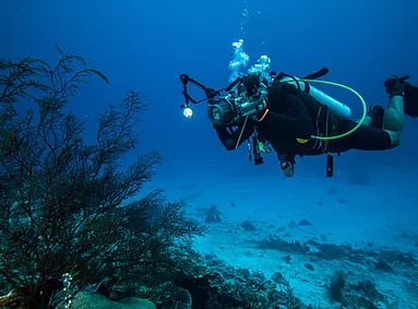
[(121, 166), (138, 147), (138, 92), (100, 116), (96, 143), (83, 142), (69, 100), (87, 78), (107, 79), (58, 50), (56, 66), (0, 61), (0, 294), (14, 289), (31, 308), (46, 308), (64, 273), (82, 284), (164, 280), (175, 243), (202, 233), (160, 191), (138, 198), (158, 153)]

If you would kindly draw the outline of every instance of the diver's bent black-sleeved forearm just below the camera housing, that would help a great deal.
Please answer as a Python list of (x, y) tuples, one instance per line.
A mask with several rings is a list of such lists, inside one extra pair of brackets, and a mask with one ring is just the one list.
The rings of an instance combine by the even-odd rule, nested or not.
[[(227, 151), (234, 151), (238, 148), (246, 140), (248, 140), (254, 132), (252, 121), (249, 121), (246, 127), (243, 124), (238, 126), (236, 129), (231, 129), (227, 126), (214, 126), (219, 141), (223, 143)], [(242, 131), (242, 134), (241, 134)], [(241, 138), (240, 138), (241, 135)], [(238, 141), (239, 140), (239, 141)]]

